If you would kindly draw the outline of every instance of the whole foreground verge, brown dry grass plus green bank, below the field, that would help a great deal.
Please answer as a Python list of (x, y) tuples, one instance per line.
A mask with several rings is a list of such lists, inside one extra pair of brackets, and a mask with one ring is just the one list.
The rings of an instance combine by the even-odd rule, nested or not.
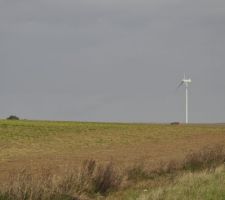
[(224, 199), (225, 150), (204, 148), (181, 161), (161, 163), (154, 170), (143, 165), (122, 172), (112, 163), (83, 163), (60, 176), (49, 169), (33, 174), (17, 171), (0, 187), (0, 199)]

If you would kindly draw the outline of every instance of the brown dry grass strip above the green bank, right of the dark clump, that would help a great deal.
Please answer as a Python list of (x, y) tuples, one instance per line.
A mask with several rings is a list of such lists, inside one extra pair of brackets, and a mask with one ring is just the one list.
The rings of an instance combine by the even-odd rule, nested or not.
[(183, 160), (159, 162), (153, 169), (139, 163), (127, 170), (128, 180), (138, 181), (154, 179), (167, 174), (173, 175), (180, 171), (215, 170), (225, 164), (225, 148), (222, 145), (205, 146), (196, 152), (188, 153)]

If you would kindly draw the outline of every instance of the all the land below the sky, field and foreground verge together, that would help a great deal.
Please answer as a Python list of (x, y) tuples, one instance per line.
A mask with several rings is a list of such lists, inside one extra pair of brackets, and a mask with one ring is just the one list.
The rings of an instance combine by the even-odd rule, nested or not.
[(225, 126), (0, 121), (0, 200), (225, 199)]

